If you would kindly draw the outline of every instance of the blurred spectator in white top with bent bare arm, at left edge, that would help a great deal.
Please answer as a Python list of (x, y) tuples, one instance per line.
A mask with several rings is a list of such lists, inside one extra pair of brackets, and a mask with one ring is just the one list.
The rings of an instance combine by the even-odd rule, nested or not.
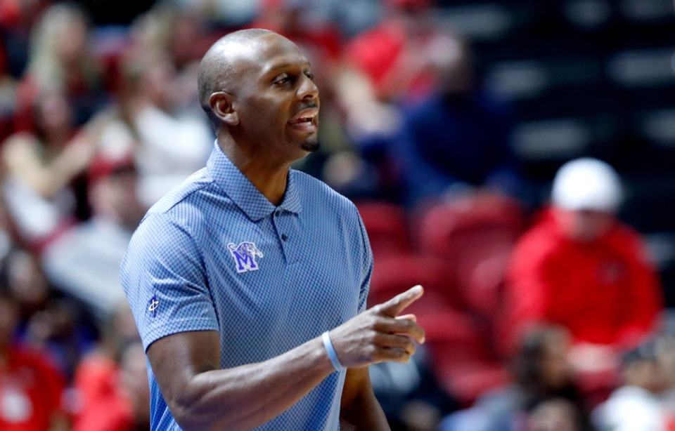
[(1, 148), (3, 194), (18, 240), (39, 251), (76, 223), (73, 180), (96, 150), (89, 131), (76, 133), (68, 100), (43, 93), (33, 107), (34, 132), (15, 133)]

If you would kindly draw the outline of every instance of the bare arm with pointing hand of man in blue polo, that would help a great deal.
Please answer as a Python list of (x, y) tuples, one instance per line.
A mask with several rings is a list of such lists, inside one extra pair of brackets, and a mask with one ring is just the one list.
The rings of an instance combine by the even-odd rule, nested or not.
[[(415, 352), (413, 340), (423, 343), (424, 331), (414, 319), (396, 318), (422, 293), (420, 287), (410, 289), (330, 331), (342, 365), (365, 370), (356, 371), (354, 378), (367, 373), (370, 364), (407, 362)], [(183, 332), (152, 343), (148, 359), (169, 410), (184, 430), (257, 427), (334, 371), (321, 337), (265, 362), (220, 369), (218, 333)]]

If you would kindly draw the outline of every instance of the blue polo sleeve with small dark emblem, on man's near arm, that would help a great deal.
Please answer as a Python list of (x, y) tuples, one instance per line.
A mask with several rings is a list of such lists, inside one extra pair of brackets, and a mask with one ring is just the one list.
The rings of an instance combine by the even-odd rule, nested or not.
[(217, 331), (217, 318), (195, 238), (167, 213), (151, 213), (122, 260), (122, 286), (147, 350), (159, 338)]

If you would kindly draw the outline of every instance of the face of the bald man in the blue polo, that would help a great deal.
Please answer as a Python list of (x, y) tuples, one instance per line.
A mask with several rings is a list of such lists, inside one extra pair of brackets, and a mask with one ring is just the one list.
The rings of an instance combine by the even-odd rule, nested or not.
[(237, 140), (288, 161), (319, 148), (319, 89), (295, 44), (276, 34), (262, 37), (233, 72), (240, 83), (233, 101)]

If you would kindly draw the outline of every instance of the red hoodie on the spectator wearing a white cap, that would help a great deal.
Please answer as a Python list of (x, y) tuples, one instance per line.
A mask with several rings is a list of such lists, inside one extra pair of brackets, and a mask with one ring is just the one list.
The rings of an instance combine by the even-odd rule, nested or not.
[(516, 246), (508, 271), (509, 342), (546, 321), (574, 341), (632, 347), (654, 328), (663, 299), (638, 234), (617, 223), (593, 244), (567, 239), (551, 213)]

